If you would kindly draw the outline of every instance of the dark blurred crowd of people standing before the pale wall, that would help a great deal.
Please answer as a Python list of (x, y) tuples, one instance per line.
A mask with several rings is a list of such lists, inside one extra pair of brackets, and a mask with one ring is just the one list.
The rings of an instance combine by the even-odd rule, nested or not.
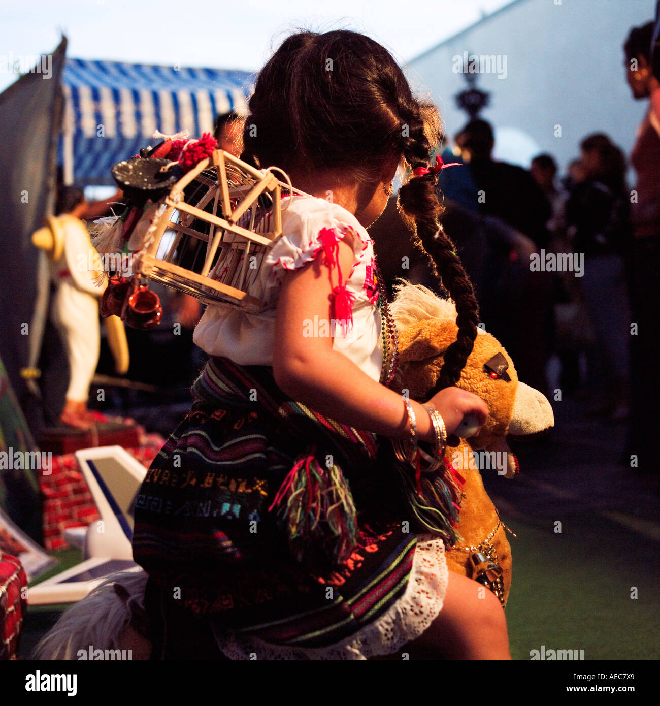
[[(652, 35), (649, 22), (632, 29), (623, 46), (632, 97), (649, 101), (630, 155), (630, 184), (625, 154), (603, 133), (585, 136), (558, 178), (549, 154), (534, 157), (529, 170), (494, 160), (493, 128), (482, 119), (464, 126), (451, 149), (443, 145), (443, 160), (463, 166), (443, 169), (438, 181), (443, 227), (472, 278), (481, 319), (520, 378), (556, 401), (586, 397), (590, 415), (628, 420), (625, 459), (634, 456), (631, 465), (643, 469), (657, 465), (647, 448), (659, 377), (660, 83)], [(407, 253), (397, 246), (394, 205), (371, 232), (387, 253), (379, 256), (387, 260), (386, 278), (432, 286), (421, 258), (401, 270)], [(534, 257), (547, 266), (530, 267)], [(551, 357), (560, 373), (548, 390)]]

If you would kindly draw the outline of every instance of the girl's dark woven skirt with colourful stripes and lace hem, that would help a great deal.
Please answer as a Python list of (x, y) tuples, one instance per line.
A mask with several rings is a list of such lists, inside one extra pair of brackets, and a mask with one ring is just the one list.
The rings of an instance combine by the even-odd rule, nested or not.
[[(318, 419), (291, 412), (270, 369), (214, 359), (193, 392), (191, 413), (155, 458), (136, 502), (133, 556), (150, 575), (156, 657), (239, 659), (246, 645), (256, 645), (256, 658), (263, 645), (284, 658), (300, 650), (318, 656), (337, 644), (355, 650), (353, 638), (369, 626), (405, 621), (407, 592), (414, 609), (412, 572), (422, 592), (435, 585), (437, 614), (443, 543), (424, 544), (426, 565), (420, 553), (416, 558), (418, 538), (396, 500), (394, 477), (368, 439), (347, 443), (335, 426), (322, 429)], [(342, 465), (357, 508), (357, 539), (340, 563), (323, 551), (298, 561), (269, 511), (310, 448)]]

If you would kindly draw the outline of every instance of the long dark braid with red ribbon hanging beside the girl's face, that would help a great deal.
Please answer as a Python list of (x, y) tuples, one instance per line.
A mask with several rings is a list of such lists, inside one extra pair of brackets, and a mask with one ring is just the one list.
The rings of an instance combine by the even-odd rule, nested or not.
[[(413, 169), (428, 167), (431, 148), (424, 134), (421, 107), (414, 99), (409, 106), (409, 115), (409, 137), (404, 138), (404, 157)], [(435, 265), (434, 274), (456, 305), (457, 339), (445, 352), (440, 377), (431, 393), (435, 394), (459, 381), (467, 358), (472, 353), (479, 323), (479, 306), (474, 297), (472, 282), (456, 254), (456, 247), (438, 221), (443, 206), (436, 188), (436, 177), (431, 173), (410, 179), (399, 191), (398, 204), (404, 215), (414, 222), (416, 245), (421, 244), (421, 248), (426, 251), (431, 263)]]

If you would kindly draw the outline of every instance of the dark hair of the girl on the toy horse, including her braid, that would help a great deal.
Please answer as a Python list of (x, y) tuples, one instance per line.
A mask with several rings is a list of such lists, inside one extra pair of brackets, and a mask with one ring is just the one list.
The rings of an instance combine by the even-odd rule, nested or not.
[[(440, 136), (436, 107), (413, 97), (390, 52), (349, 30), (287, 37), (260, 71), (248, 108), (242, 160), (286, 172), (348, 173), (366, 203), (392, 158), (413, 169), (428, 167)], [(438, 220), (443, 207), (436, 177), (409, 179), (399, 205), (414, 229), (414, 243), (431, 258), (456, 304), (457, 340), (445, 352), (435, 393), (459, 380), (476, 337), (478, 307)]]

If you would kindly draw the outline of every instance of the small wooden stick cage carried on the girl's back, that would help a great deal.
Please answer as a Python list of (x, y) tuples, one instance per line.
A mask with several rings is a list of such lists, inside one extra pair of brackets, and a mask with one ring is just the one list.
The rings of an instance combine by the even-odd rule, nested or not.
[(205, 304), (259, 311), (262, 302), (248, 292), (265, 253), (282, 235), (282, 196), (294, 193), (302, 192), (282, 170), (255, 169), (215, 150), (156, 204), (133, 273)]

